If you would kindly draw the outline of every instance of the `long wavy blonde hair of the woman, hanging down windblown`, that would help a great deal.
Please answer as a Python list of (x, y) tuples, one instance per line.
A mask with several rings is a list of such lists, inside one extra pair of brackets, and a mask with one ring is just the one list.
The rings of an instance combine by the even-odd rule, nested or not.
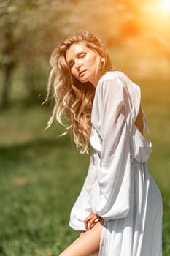
[[(104, 43), (90, 32), (78, 32), (61, 42), (53, 50), (50, 57), (52, 69), (48, 80), (47, 99), (53, 88), (52, 94), (55, 99), (55, 105), (47, 127), (50, 127), (56, 119), (58, 123), (66, 127), (64, 134), (66, 134), (68, 130), (72, 131), (77, 149), (80, 153), (84, 154), (85, 152), (88, 153), (91, 132), (90, 118), (95, 88), (90, 82), (81, 83), (74, 78), (66, 62), (66, 51), (72, 44), (79, 42), (83, 42), (90, 50), (98, 53), (98, 67), (96, 67), (96, 73), (99, 69), (103, 69), (106, 72), (112, 70), (112, 64), (105, 50)], [(99, 56), (104, 59), (102, 64)], [(69, 124), (66, 124), (68, 117)]]

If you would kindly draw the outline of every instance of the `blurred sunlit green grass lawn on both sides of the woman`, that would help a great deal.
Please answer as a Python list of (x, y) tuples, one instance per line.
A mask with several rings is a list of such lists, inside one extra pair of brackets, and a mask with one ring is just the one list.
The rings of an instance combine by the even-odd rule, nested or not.
[[(170, 86), (139, 82), (152, 135), (148, 162), (163, 195), (163, 256), (170, 255)], [(28, 103), (28, 102), (27, 102)], [(12, 103), (0, 115), (0, 256), (58, 255), (76, 237), (69, 212), (88, 169), (50, 110)]]

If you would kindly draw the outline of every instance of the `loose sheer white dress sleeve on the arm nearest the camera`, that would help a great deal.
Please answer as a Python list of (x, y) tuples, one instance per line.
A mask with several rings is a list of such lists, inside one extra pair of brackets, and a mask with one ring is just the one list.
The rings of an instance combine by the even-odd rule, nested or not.
[(101, 151), (97, 154), (97, 180), (90, 205), (105, 221), (126, 217), (131, 194), (129, 95), (119, 78), (105, 80), (97, 88), (100, 102)]

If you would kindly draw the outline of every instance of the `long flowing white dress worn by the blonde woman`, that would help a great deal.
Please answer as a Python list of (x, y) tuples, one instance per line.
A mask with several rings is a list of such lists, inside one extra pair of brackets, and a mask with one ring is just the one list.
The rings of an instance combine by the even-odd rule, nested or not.
[(104, 219), (99, 256), (162, 255), (161, 194), (146, 164), (151, 142), (134, 124), (140, 103), (139, 86), (123, 72), (107, 72), (98, 81), (91, 117), (93, 151), (69, 225), (85, 230), (91, 211)]

